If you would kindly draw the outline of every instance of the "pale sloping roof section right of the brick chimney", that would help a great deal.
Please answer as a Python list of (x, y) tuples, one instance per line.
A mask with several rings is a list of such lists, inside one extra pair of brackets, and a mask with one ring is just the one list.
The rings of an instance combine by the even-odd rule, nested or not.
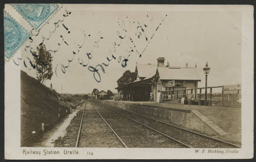
[(195, 67), (157, 67), (159, 77), (161, 80), (196, 80), (201, 81), (198, 69)]

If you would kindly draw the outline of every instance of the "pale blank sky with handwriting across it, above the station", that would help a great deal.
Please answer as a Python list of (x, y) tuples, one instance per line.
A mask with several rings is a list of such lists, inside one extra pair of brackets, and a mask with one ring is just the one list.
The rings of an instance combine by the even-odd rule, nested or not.
[[(49, 31), (55, 28), (53, 23), (63, 19), (62, 15), (67, 12), (65, 10), (71, 13), (59, 23), (59, 27), (50, 36)], [(92, 10), (90, 6), (83, 8), (63, 5), (48, 24), (42, 27), (39, 34), (32, 36), (31, 47), (34, 49), (42, 42), (42, 36), (46, 38), (50, 36), (49, 40), (43, 42), (47, 50), (54, 51), (59, 48), (52, 58), (52, 79), (44, 84), (50, 87), (52, 83), (56, 91), (61, 92), (62, 87), (63, 93), (72, 94), (92, 93), (94, 88), (117, 92), (116, 81), (126, 70), (134, 72), (136, 63), (157, 64), (158, 57), (164, 57), (165, 64), (167, 65), (169, 61), (170, 66), (185, 67), (188, 63), (188, 67), (195, 67), (196, 64), (202, 79), (198, 87), (205, 85), (202, 68), (206, 62), (211, 68), (208, 86), (241, 83), (241, 12), (161, 11), (159, 8), (156, 11), (145, 10), (147, 11), (128, 9), (100, 11), (100, 9)], [(66, 43), (62, 42), (60, 35)], [(124, 38), (121, 40), (119, 36)], [(97, 41), (99, 42), (95, 43)], [(62, 44), (59, 46), (60, 42)], [(113, 44), (116, 44), (115, 50)], [(76, 52), (75, 55), (73, 51)], [(88, 59), (86, 53), (91, 53), (91, 59)], [(109, 61), (108, 66), (102, 66), (105, 73), (99, 66), (97, 67), (101, 77), (100, 82), (97, 82), (88, 67), (96, 68), (98, 64), (108, 64), (107, 57), (111, 59), (112, 54), (116, 59)], [(128, 59), (126, 67), (122, 67), (121, 62), (118, 62), (120, 56), (121, 62), (124, 58)], [(23, 58), (26, 57), (33, 60), (28, 51), (23, 53)], [(68, 59), (72, 58), (63, 73), (61, 64), (67, 66)], [(81, 60), (84, 65), (89, 60), (89, 64), (82, 66), (79, 64)], [(36, 77), (35, 69), (29, 70), (23, 64), (20, 66), (28, 75)], [(99, 81), (97, 73), (95, 78)]]

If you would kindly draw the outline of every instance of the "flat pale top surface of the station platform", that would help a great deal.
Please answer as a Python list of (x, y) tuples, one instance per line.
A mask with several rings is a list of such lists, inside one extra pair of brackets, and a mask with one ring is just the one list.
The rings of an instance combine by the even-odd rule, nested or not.
[[(109, 100), (114, 101), (114, 100)], [(172, 108), (180, 110), (197, 110), (202, 113), (206, 118), (211, 120), (214, 124), (224, 130), (227, 135), (218, 136), (226, 141), (235, 141), (241, 143), (241, 108), (235, 107), (220, 107), (220, 106), (199, 106), (199, 105), (184, 105), (184, 104), (171, 104), (171, 103), (156, 103), (153, 101), (148, 102), (133, 102), (133, 101), (114, 101), (127, 104), (140, 104), (154, 108)]]

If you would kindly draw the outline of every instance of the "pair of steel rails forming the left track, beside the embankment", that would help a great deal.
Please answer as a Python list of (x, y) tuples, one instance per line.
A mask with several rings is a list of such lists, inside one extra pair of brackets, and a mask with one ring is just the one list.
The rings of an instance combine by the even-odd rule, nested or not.
[[(86, 101), (85, 105), (84, 105), (84, 110), (83, 110), (83, 114), (81, 117), (81, 122), (80, 122), (80, 126), (79, 126), (79, 131), (78, 131), (78, 135), (77, 135), (77, 139), (76, 139), (76, 146), (75, 147), (79, 147), (80, 144), (80, 139), (81, 139), (81, 134), (82, 134), (82, 126), (83, 126), (83, 122), (84, 122), (84, 111), (86, 108), (86, 104), (91, 104), (92, 103), (90, 101)], [(113, 132), (113, 134), (117, 137), (118, 141), (123, 145), (123, 147), (127, 147), (126, 144), (123, 142), (123, 140), (116, 134), (116, 132), (114, 131), (114, 129), (108, 124), (108, 122), (102, 117), (102, 115), (100, 114), (100, 112), (97, 111), (97, 109), (92, 105), (92, 107), (94, 108), (94, 110), (97, 112), (97, 114), (101, 117), (101, 119), (107, 124), (107, 126), (110, 128), (110, 130)]]

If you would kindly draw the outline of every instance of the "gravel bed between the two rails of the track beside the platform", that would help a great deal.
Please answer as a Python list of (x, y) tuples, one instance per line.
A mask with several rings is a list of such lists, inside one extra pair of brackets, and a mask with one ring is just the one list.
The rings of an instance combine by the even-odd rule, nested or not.
[(164, 123), (160, 123), (155, 120), (141, 117), (139, 115), (133, 114), (132, 112), (126, 112), (124, 110), (120, 110), (108, 105), (105, 105), (105, 106), (108, 108), (111, 108), (112, 110), (120, 112), (134, 120), (137, 120), (140, 123), (143, 123), (149, 127), (152, 127), (166, 135), (169, 135), (183, 143), (186, 143), (189, 146), (194, 148), (233, 148), (232, 146), (228, 146), (227, 144), (219, 143), (219, 142), (189, 133), (179, 128), (171, 127)]

